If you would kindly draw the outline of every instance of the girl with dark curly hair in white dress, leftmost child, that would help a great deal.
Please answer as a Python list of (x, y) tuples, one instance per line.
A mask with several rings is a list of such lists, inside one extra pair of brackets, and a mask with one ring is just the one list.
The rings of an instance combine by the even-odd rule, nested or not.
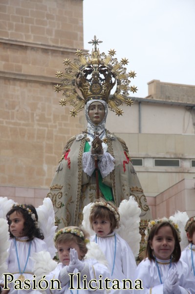
[[(22, 282), (25, 279), (32, 280), (34, 273), (32, 268), (34, 262), (31, 256), (34, 252), (47, 251), (47, 245), (43, 241), (44, 236), (38, 228), (38, 214), (33, 205), (14, 204), (11, 210), (6, 214), (9, 233), (10, 247), (7, 260), (7, 272), (13, 274), (14, 280), (19, 279)], [(4, 280), (1, 280), (3, 284)], [(20, 294), (26, 293), (26, 290), (15, 290), (14, 284), (9, 284), (9, 290), (3, 290), (2, 293)], [(39, 290), (31, 290), (30, 293), (41, 293)]]

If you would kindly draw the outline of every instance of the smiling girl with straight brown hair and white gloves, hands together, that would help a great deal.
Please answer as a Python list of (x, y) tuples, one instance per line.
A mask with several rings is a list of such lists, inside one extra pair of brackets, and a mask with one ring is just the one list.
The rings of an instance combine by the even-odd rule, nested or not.
[(146, 229), (146, 258), (138, 265), (135, 279), (143, 290), (134, 294), (195, 294), (195, 281), (181, 262), (178, 225), (167, 218), (152, 220)]

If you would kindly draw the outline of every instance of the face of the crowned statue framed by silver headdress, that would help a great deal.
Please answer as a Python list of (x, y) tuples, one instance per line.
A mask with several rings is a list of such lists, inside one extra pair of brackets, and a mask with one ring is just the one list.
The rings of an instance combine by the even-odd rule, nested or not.
[(93, 102), (88, 108), (88, 116), (92, 123), (99, 124), (105, 116), (105, 108), (101, 102)]

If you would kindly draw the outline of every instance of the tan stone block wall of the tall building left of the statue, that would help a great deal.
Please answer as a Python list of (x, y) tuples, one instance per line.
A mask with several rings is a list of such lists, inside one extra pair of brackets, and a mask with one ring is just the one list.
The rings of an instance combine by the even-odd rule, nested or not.
[(0, 184), (48, 188), (83, 130), (83, 113), (71, 117), (53, 89), (63, 59), (83, 49), (83, 1), (1, 0), (0, 19)]

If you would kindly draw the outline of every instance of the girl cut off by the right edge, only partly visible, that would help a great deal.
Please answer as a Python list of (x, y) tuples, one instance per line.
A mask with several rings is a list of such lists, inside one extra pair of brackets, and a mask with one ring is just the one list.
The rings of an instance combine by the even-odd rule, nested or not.
[(189, 245), (181, 252), (181, 260), (188, 265), (195, 278), (195, 216), (188, 219), (185, 231)]

